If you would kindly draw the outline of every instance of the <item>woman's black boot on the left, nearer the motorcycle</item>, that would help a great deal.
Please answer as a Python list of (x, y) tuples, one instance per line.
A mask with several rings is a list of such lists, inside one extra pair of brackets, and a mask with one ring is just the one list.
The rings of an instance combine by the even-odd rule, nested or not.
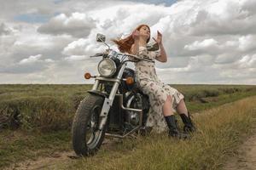
[(169, 136), (178, 138), (178, 139), (189, 139), (188, 134), (178, 132), (174, 115), (165, 116), (165, 118), (166, 118), (167, 126), (169, 127)]

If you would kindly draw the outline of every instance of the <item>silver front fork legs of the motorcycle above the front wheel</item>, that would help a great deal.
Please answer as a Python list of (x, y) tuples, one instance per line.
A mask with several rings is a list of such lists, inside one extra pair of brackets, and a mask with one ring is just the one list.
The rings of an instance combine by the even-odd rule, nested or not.
[[(125, 71), (125, 66), (126, 66), (126, 63), (124, 65), (122, 65), (122, 67), (120, 68), (119, 74), (117, 76), (117, 81), (113, 83), (113, 88), (112, 88), (108, 98), (105, 98), (105, 100), (104, 100), (104, 103), (102, 105), (101, 115), (100, 115), (101, 119), (100, 119), (100, 123), (99, 123), (99, 130), (103, 129), (103, 127), (105, 126), (105, 124), (108, 120), (108, 112), (110, 110), (111, 105), (113, 104), (113, 99), (115, 97), (115, 94), (117, 93), (119, 84), (121, 83), (121, 78)], [(100, 80), (96, 79), (96, 82), (95, 82), (92, 90), (96, 90), (98, 88), (99, 81)]]

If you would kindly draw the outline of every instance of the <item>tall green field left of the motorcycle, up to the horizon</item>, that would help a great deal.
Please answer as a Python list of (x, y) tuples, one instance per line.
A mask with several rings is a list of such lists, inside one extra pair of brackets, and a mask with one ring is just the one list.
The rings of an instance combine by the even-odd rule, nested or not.
[(62, 130), (90, 85), (0, 85), (0, 116), (26, 130)]

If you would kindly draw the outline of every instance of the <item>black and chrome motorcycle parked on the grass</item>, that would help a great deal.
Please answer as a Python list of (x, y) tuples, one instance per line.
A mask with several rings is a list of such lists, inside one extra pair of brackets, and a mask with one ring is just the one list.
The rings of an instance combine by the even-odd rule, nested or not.
[[(134, 133), (145, 133), (148, 117), (148, 96), (137, 86), (135, 71), (128, 62), (151, 59), (119, 53), (105, 42), (106, 37), (96, 35), (108, 49), (90, 57), (102, 57), (98, 63), (98, 76), (85, 73), (84, 78), (95, 78), (73, 118), (72, 143), (78, 156), (93, 156), (100, 149), (105, 136), (124, 139)], [(148, 44), (149, 51), (157, 50), (157, 43)]]

